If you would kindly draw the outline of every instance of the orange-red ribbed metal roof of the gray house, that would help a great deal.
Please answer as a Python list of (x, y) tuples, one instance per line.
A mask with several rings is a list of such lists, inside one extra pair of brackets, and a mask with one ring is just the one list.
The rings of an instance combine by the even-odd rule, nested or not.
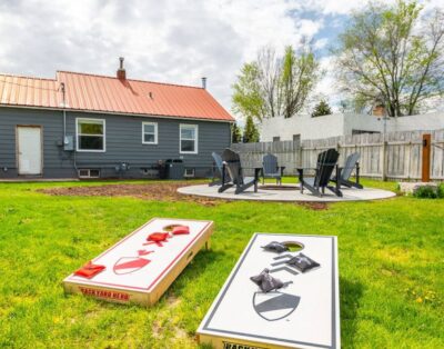
[(0, 74), (0, 104), (124, 114), (234, 121), (205, 90), (196, 87), (58, 71), (56, 79)]

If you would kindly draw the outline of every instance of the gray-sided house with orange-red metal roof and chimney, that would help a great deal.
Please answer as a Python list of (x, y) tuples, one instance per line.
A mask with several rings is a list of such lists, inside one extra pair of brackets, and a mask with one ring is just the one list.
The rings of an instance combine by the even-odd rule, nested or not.
[(178, 159), (206, 176), (233, 118), (202, 88), (58, 71), (0, 74), (0, 178), (145, 178)]

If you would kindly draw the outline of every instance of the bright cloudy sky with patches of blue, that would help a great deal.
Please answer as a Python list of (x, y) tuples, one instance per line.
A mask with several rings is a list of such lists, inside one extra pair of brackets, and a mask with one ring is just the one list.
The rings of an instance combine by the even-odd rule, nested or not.
[[(423, 1), (426, 9), (443, 0)], [(195, 84), (208, 77), (230, 111), (231, 86), (258, 49), (313, 39), (322, 67), (360, 0), (0, 0), (0, 72), (53, 78), (56, 70)], [(334, 80), (317, 87), (334, 103)]]

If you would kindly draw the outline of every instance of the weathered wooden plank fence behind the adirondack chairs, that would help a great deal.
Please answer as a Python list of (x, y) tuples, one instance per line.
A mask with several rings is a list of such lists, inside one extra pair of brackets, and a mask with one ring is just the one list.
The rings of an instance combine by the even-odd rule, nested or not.
[[(431, 134), (431, 141), (423, 140)], [(340, 164), (357, 151), (361, 153), (361, 176), (394, 180), (421, 180), (423, 178), (423, 149), (430, 151), (431, 180), (444, 180), (444, 129), (435, 131), (405, 131), (386, 133), (363, 133), (332, 137), (326, 139), (293, 141), (235, 143), (233, 150), (241, 154), (246, 168), (261, 166), (262, 157), (270, 152), (285, 166), (286, 174), (295, 174), (297, 167), (313, 168), (317, 154), (329, 148), (340, 152)], [(424, 153), (427, 153), (426, 151)], [(426, 164), (426, 161), (424, 161)]]

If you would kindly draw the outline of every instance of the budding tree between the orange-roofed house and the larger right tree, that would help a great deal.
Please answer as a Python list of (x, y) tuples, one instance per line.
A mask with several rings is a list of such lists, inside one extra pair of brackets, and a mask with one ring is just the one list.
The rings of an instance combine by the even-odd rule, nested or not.
[(233, 84), (233, 110), (258, 120), (299, 112), (309, 93), (315, 87), (320, 72), (319, 63), (309, 44), (299, 54), (292, 47), (285, 49), (283, 58), (275, 50), (263, 48), (254, 62), (242, 67)]

